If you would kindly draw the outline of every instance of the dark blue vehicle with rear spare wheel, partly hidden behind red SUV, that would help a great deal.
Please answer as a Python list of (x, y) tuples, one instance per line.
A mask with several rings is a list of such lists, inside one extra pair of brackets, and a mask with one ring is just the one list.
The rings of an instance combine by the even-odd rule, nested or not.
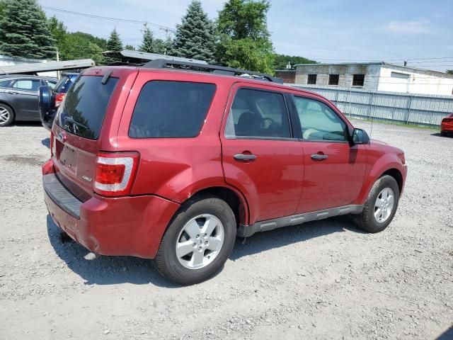
[(50, 131), (55, 113), (79, 73), (64, 73), (55, 86), (40, 86), (39, 108), (42, 126)]

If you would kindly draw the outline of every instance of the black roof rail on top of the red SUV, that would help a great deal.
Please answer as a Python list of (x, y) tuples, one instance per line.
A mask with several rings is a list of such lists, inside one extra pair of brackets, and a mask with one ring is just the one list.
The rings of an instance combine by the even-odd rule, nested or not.
[(164, 69), (164, 68), (175, 68), (175, 69), (184, 69), (188, 71), (197, 71), (197, 72), (210, 72), (213, 74), (224, 74), (227, 76), (240, 76), (240, 77), (250, 77), (252, 79), (272, 81), (274, 83), (283, 84), (283, 79), (272, 77), (269, 74), (247, 71), (245, 69), (233, 69), (231, 67), (202, 64), (198, 62), (188, 62), (183, 60), (166, 60), (166, 59), (156, 59), (151, 62), (147, 62), (143, 65), (144, 68), (149, 69)]

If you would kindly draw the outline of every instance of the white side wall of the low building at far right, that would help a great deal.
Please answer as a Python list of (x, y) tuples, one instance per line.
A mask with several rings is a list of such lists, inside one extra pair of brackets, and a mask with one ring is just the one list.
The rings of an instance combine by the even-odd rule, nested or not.
[(384, 65), (379, 73), (377, 90), (451, 96), (453, 94), (453, 77), (437, 72), (423, 72)]

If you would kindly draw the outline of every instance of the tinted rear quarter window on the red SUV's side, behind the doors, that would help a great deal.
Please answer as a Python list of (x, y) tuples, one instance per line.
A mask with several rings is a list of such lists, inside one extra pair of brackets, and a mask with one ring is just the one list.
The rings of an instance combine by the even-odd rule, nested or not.
[(149, 81), (132, 114), (132, 138), (196, 137), (205, 121), (215, 85), (188, 81)]

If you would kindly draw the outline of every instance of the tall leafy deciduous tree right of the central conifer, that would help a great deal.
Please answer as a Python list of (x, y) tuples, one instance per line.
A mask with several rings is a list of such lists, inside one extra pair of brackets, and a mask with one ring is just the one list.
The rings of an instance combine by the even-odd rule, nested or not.
[(273, 73), (275, 55), (268, 31), (267, 0), (229, 0), (219, 12), (219, 64)]

